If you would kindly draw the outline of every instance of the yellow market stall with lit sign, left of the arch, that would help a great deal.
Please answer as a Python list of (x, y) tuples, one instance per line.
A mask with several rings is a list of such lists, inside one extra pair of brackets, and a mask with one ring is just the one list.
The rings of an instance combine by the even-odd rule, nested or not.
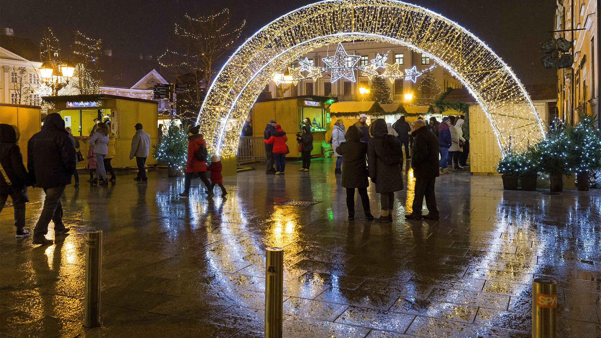
[[(115, 158), (111, 161), (115, 168), (136, 166), (135, 158), (129, 159), (132, 137), (136, 134), (134, 128), (136, 123), (141, 123), (144, 131), (150, 134), (151, 144), (156, 144), (158, 141), (156, 101), (106, 94), (47, 96), (43, 99), (55, 105), (55, 109), (49, 109), (48, 112), (61, 114), (65, 125), (72, 129), (74, 136), (80, 138), (84, 157), (88, 152), (87, 139), (94, 127), (94, 118), (97, 117), (103, 119), (108, 117), (111, 120), (111, 132), (117, 135)], [(156, 163), (151, 147), (146, 164)], [(84, 165), (85, 162), (80, 163), (80, 167)]]

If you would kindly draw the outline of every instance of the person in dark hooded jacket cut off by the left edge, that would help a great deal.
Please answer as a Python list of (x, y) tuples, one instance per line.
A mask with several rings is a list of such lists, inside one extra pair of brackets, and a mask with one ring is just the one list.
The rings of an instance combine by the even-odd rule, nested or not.
[(13, 200), (14, 226), (17, 228), (15, 237), (21, 238), (29, 236), (29, 231), (25, 230), (25, 202), (28, 200), (24, 192), (31, 182), (23, 166), (23, 156), (17, 141), (13, 126), (0, 123), (0, 164), (3, 169), (0, 175), (0, 211), (4, 209), (10, 195)]

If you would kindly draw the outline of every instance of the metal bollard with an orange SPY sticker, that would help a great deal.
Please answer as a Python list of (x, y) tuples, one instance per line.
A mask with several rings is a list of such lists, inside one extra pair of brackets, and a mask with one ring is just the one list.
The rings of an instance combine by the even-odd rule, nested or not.
[(532, 338), (557, 337), (557, 282), (550, 278), (532, 281)]

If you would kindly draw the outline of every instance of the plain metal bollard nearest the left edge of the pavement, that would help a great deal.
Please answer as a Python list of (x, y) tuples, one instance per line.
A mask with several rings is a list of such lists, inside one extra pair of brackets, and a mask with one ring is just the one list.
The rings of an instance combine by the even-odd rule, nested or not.
[(84, 326), (100, 325), (100, 265), (102, 264), (102, 230), (85, 233)]

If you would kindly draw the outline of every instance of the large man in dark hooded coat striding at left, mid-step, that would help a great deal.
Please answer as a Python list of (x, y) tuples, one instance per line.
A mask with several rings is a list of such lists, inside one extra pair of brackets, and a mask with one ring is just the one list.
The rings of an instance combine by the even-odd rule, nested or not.
[(61, 195), (65, 186), (71, 184), (76, 167), (75, 147), (65, 130), (65, 121), (56, 112), (44, 120), (40, 132), (35, 133), (27, 144), (27, 167), (35, 186), (44, 189), (46, 198), (40, 219), (35, 224), (34, 244), (50, 245), (46, 239), (50, 220), (54, 223), (54, 236), (69, 232), (63, 224)]

